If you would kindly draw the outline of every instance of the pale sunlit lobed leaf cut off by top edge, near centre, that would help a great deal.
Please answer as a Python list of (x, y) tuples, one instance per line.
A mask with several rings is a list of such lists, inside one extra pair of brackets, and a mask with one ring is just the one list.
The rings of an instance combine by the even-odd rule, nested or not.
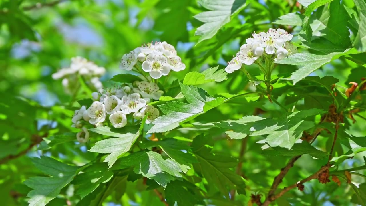
[(236, 16), (245, 6), (246, 0), (200, 0), (198, 2), (211, 11), (203, 11), (194, 16), (204, 24), (197, 28), (195, 35), (201, 36), (197, 42), (212, 38), (231, 17)]

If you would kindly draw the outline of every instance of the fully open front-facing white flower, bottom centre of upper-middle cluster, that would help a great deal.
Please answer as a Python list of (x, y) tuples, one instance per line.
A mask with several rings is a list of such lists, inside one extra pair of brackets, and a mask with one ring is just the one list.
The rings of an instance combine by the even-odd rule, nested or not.
[(164, 55), (152, 53), (147, 55), (146, 60), (142, 63), (142, 70), (149, 72), (152, 78), (158, 79), (169, 74), (170, 65)]

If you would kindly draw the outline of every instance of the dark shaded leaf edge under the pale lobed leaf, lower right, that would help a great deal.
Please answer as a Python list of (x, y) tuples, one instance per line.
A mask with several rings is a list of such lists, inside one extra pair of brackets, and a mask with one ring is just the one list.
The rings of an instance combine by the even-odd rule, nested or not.
[(303, 154), (310, 154), (311, 157), (315, 157), (318, 159), (324, 159), (329, 157), (329, 154), (320, 150), (315, 149), (311, 146), (307, 141), (302, 141), (299, 144), (294, 144), (294, 146), (287, 150), (282, 147), (272, 147), (270, 149), (266, 149), (262, 151), (262, 154), (269, 155), (269, 156), (296, 156), (296, 155), (303, 155)]

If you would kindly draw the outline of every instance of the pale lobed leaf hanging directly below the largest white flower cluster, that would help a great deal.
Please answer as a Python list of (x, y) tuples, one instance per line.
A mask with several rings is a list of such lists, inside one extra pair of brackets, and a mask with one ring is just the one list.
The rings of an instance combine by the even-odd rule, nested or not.
[(108, 168), (111, 168), (113, 163), (115, 163), (120, 156), (122, 156), (124, 153), (128, 152), (131, 149), (132, 145), (135, 143), (136, 139), (140, 135), (140, 131), (136, 126), (120, 129), (102, 126), (89, 130), (101, 135), (117, 137), (98, 141), (89, 150), (90, 152), (97, 152), (102, 154), (111, 153), (104, 159), (104, 162), (108, 162)]

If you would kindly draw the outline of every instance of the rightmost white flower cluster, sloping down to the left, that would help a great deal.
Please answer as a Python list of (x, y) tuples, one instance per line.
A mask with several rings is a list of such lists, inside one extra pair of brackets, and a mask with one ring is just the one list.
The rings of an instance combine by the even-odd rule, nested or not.
[(246, 44), (243, 44), (236, 56), (228, 62), (225, 68), (227, 73), (240, 69), (242, 64), (253, 64), (264, 52), (275, 57), (275, 61), (296, 52), (296, 47), (289, 42), (292, 34), (283, 29), (269, 29), (267, 32), (252, 35), (253, 38), (248, 38)]

